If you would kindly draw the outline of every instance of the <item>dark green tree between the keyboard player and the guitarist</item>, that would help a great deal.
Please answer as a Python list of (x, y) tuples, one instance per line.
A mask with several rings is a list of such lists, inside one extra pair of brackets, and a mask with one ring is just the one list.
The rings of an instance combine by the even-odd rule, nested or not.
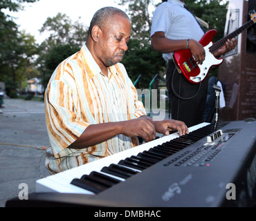
[(159, 79), (163, 79), (165, 74), (165, 61), (161, 53), (152, 50), (150, 43), (152, 15), (149, 7), (153, 1), (121, 0), (119, 4), (128, 4), (127, 14), (131, 19), (131, 40), (122, 63), (133, 81), (142, 75), (138, 81), (140, 88), (148, 88), (156, 74)]

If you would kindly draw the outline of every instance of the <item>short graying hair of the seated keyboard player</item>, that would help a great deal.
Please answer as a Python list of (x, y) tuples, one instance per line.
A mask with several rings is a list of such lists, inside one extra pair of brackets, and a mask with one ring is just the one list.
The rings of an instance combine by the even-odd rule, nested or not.
[(100, 28), (103, 28), (104, 25), (107, 23), (107, 21), (109, 21), (109, 19), (111, 19), (114, 15), (120, 15), (129, 20), (128, 15), (124, 11), (120, 10), (119, 8), (114, 8), (114, 7), (100, 8), (93, 15), (93, 19), (91, 19), (88, 35), (91, 35), (91, 30), (93, 26), (99, 26)]

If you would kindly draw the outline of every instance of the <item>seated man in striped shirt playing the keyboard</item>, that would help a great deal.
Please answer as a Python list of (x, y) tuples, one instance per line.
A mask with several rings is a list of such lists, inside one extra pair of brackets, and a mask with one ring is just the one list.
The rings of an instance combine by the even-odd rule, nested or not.
[(128, 49), (129, 17), (118, 8), (98, 10), (86, 43), (57, 66), (45, 93), (51, 146), (46, 167), (58, 173), (154, 140), (156, 132), (188, 133), (181, 121), (147, 117), (136, 88), (119, 62)]

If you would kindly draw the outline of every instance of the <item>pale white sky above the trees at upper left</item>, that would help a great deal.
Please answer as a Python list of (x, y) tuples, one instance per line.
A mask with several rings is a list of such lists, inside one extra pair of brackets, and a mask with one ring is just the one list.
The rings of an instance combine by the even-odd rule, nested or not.
[(127, 6), (118, 6), (118, 0), (39, 0), (35, 3), (24, 3), (24, 10), (19, 12), (8, 12), (9, 15), (17, 18), (15, 23), (19, 30), (26, 30), (26, 33), (35, 36), (38, 44), (47, 37), (47, 33), (40, 34), (39, 29), (47, 17), (55, 17), (58, 12), (66, 14), (72, 19), (80, 21), (89, 27), (94, 13), (104, 6), (114, 6), (125, 10)]

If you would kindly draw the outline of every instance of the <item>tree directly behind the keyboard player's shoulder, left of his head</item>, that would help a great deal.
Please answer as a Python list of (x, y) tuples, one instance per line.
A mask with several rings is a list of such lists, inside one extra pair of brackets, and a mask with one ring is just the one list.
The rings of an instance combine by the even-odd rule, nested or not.
[(43, 73), (44, 88), (53, 71), (60, 62), (80, 50), (86, 39), (88, 28), (78, 21), (71, 21), (66, 14), (58, 13), (55, 17), (48, 17), (40, 32), (50, 35), (39, 46), (37, 65)]

